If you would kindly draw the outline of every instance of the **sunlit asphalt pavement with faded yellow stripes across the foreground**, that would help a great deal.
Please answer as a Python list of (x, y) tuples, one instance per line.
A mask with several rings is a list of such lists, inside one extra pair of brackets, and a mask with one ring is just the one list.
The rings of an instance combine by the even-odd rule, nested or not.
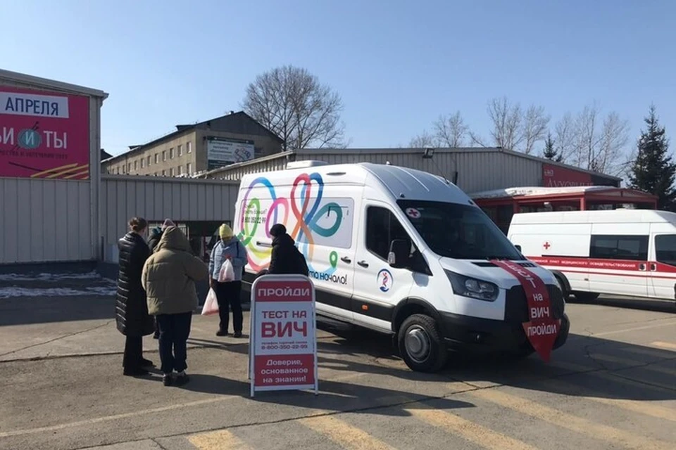
[[(0, 300), (0, 449), (676, 448), (676, 308), (569, 303), (549, 364), (453, 356), (413, 373), (375, 333), (321, 323), (320, 394), (249, 397), (248, 330), (194, 316), (182, 387), (122, 375), (110, 297)], [(248, 314), (245, 323), (248, 322)], [(159, 365), (157, 341), (144, 340)]]

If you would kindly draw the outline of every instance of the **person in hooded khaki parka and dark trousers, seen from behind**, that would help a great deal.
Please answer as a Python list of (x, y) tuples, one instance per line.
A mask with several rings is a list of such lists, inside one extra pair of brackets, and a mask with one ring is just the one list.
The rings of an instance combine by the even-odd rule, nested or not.
[(198, 306), (195, 281), (208, 279), (208, 267), (192, 255), (190, 243), (176, 226), (162, 234), (153, 254), (143, 266), (142, 283), (149, 314), (160, 330), (159, 350), (164, 385), (188, 381), (187, 340), (192, 314)]

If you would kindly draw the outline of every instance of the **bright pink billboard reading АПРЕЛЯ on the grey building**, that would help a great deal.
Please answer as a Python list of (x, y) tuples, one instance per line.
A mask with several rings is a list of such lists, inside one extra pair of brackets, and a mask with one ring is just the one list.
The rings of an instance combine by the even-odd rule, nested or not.
[(0, 86), (0, 176), (89, 179), (89, 98)]

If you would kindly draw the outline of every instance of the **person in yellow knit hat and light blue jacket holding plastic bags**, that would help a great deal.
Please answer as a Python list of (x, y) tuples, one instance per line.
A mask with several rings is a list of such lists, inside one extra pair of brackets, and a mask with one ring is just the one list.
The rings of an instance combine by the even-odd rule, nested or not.
[[(218, 316), (220, 316), (216, 335), (228, 335), (230, 307), (232, 307), (234, 337), (242, 338), (242, 324), (244, 322), (242, 315), (242, 272), (248, 261), (246, 248), (237, 239), (237, 236), (234, 236), (232, 229), (227, 224), (220, 226), (218, 236), (220, 240), (211, 249), (211, 258), (209, 258), (209, 274), (211, 274), (209, 285), (216, 293)], [(226, 259), (230, 259), (232, 269), (234, 269), (234, 280), (219, 283), (218, 274)]]

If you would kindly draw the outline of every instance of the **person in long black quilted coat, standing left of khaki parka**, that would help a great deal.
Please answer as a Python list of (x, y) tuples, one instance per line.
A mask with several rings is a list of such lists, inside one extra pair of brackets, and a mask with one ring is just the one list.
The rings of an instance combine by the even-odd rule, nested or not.
[(147, 226), (146, 219), (132, 218), (130, 232), (118, 241), (120, 270), (115, 319), (118, 330), (126, 337), (123, 373), (129, 376), (147, 375), (145, 367), (153, 365), (143, 357), (143, 337), (152, 334), (155, 328), (153, 317), (148, 314), (146, 291), (141, 284), (143, 266), (150, 255), (142, 237)]

